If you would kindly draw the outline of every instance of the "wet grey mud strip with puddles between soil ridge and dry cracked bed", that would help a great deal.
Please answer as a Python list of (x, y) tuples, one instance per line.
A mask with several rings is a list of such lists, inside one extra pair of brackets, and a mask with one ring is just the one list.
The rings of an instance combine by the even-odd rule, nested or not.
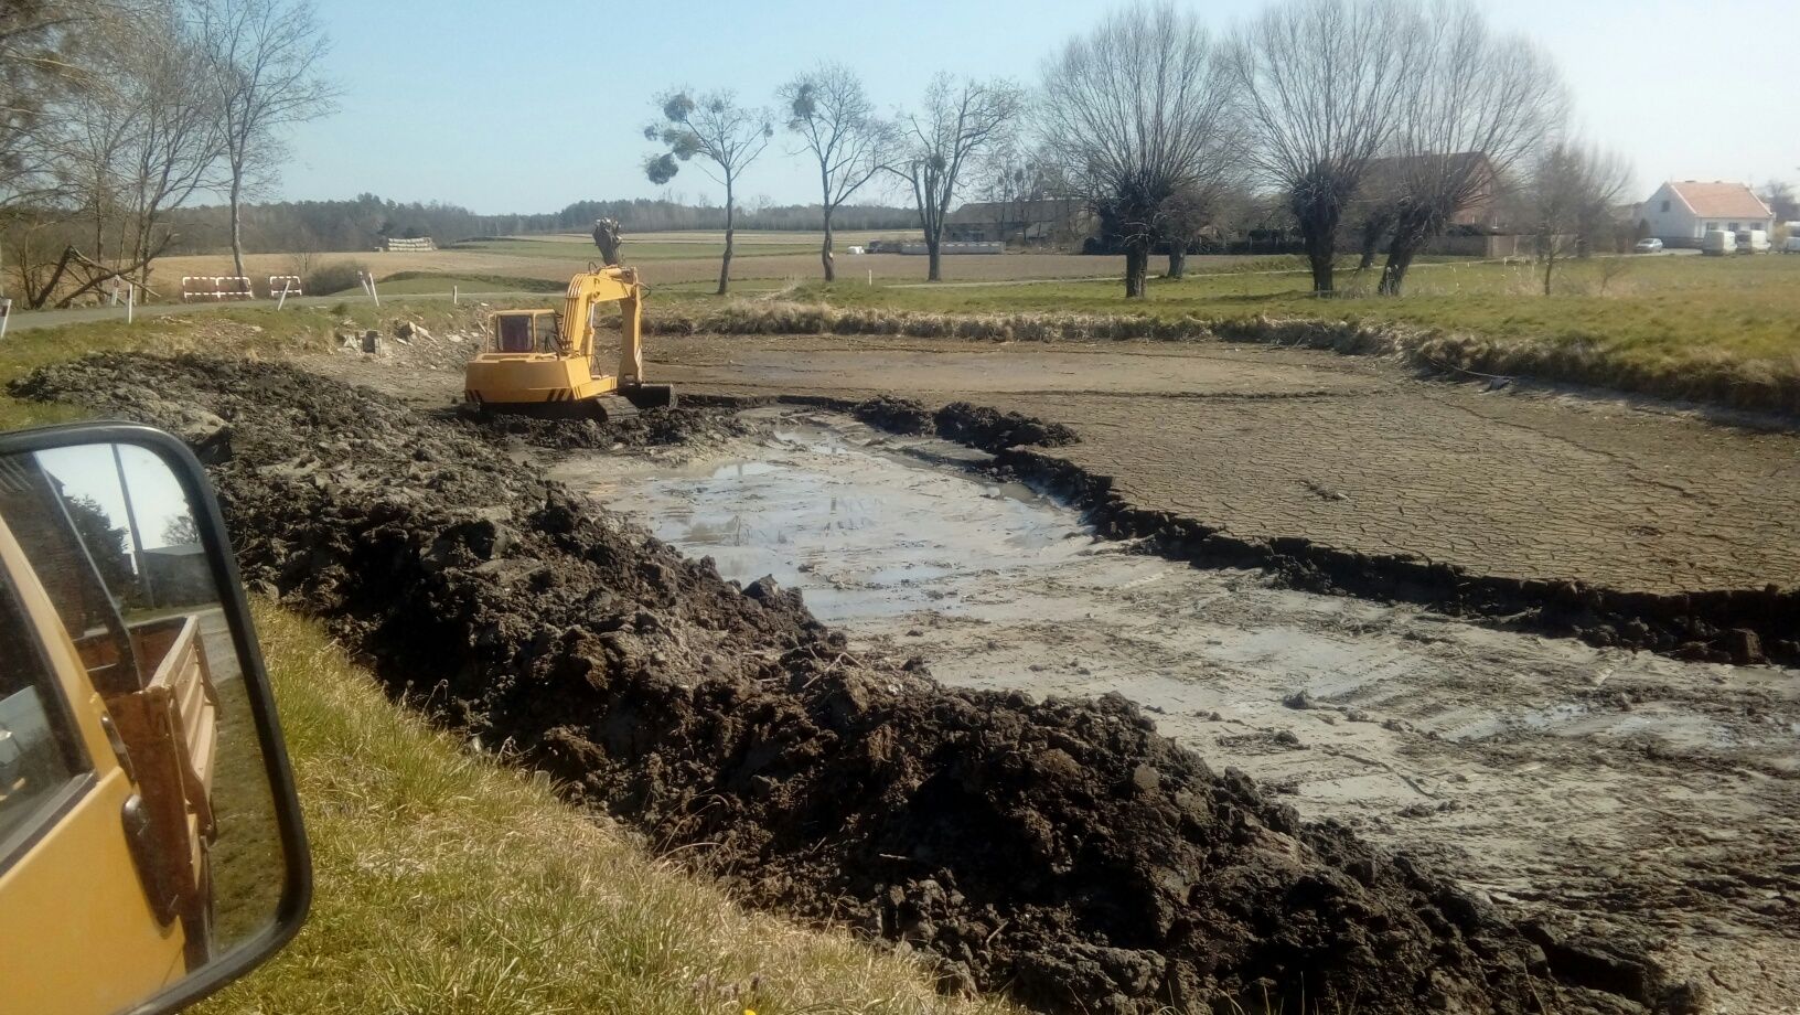
[[(569, 455), (553, 479), (727, 578), (774, 574), (952, 686), (1121, 693), (1215, 768), (1489, 893), (1651, 927), (1712, 1011), (1800, 997), (1800, 682), (1285, 588), (1096, 538), (988, 455), (765, 407), (686, 464)], [(945, 468), (961, 466), (961, 468)]]

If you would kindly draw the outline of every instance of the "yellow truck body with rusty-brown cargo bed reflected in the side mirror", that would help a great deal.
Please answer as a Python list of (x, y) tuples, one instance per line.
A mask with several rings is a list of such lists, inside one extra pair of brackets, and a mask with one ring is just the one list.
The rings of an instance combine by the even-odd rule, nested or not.
[[(68, 759), (67, 776), (27, 797), (31, 822), (0, 846), (7, 1002), (45, 1015), (119, 1011), (209, 959), (218, 698), (203, 641), (193, 615), (130, 628), (133, 651), (158, 664), (149, 678), (135, 666), (126, 678), (101, 639), (70, 637), (5, 518), (0, 570), (0, 637), (23, 653), (14, 660), (41, 660), (38, 689), (61, 705), (52, 711), (67, 723), (58, 743)], [(31, 790), (0, 785), (0, 803)]]

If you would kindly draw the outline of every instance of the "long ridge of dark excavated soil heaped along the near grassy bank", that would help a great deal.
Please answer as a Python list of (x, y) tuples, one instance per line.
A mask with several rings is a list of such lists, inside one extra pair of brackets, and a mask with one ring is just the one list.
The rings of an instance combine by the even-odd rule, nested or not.
[[(290, 367), (101, 356), (14, 387), (209, 463), (245, 578), (752, 902), (1046, 1011), (1685, 1010), (1642, 950), (1517, 927), (1213, 772), (1123, 698), (855, 659), (470, 428)], [(1238, 1008), (1233, 1008), (1238, 1006)]]

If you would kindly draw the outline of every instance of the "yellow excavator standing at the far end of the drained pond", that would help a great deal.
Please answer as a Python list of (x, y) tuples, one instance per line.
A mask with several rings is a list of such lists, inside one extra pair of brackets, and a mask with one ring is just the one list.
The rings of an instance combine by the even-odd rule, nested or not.
[[(599, 414), (670, 405), (666, 385), (644, 383), (643, 286), (637, 272), (608, 265), (569, 281), (563, 310), (493, 315), (488, 347), (468, 362), (464, 398), (497, 412)], [(594, 317), (619, 304), (619, 369), (594, 369)]]

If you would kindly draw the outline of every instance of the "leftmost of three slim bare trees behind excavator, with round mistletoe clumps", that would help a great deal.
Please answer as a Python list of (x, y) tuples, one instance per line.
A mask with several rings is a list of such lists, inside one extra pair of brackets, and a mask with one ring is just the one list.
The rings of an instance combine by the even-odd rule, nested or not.
[(657, 108), (662, 110), (662, 122), (646, 126), (644, 139), (662, 142), (668, 151), (644, 160), (650, 182), (668, 184), (680, 171), (679, 162), (698, 155), (700, 171), (725, 187), (725, 256), (718, 263), (718, 295), (725, 295), (731, 288), (738, 176), (769, 148), (776, 128), (767, 110), (740, 106), (731, 92), (711, 92), (695, 101), (686, 88), (677, 88), (657, 95)]

